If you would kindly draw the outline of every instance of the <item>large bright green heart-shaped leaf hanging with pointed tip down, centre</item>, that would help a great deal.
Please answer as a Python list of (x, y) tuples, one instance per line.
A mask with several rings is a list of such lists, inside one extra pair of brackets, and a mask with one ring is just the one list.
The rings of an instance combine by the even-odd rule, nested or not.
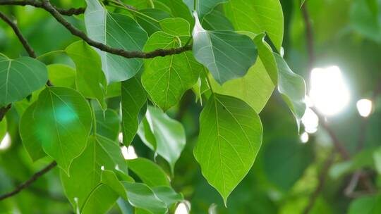
[(200, 115), (194, 155), (225, 204), (253, 165), (261, 143), (262, 124), (253, 108), (231, 96), (210, 96)]

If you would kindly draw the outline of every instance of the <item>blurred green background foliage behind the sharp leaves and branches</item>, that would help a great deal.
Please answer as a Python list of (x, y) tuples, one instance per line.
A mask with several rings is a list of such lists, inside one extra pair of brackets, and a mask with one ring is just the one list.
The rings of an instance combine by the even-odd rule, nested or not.
[[(134, 1), (125, 1), (133, 4)], [(84, 1), (55, 0), (53, 4), (62, 8), (85, 6)], [(306, 21), (303, 18), (300, 0), (281, 0), (284, 11), (284, 58), (295, 73), (305, 77), (307, 86), (310, 69), (306, 41)], [(349, 84), (351, 102), (341, 113), (329, 118), (329, 127), (343, 142), (353, 158), (342, 160), (333, 155), (333, 165), (310, 213), (379, 213), (381, 198), (378, 194), (346, 196), (346, 187), (354, 172), (365, 170), (375, 185), (381, 186), (381, 101), (375, 100), (373, 113), (368, 119), (361, 118), (356, 110), (356, 101), (370, 98), (380, 84), (381, 70), (381, 1), (379, 0), (307, 0), (306, 6), (313, 28), (315, 61), (313, 67), (337, 65)], [(18, 21), (37, 56), (49, 51), (65, 49), (76, 38), (56, 23), (48, 13), (30, 6), (1, 6), (1, 11), (11, 14)], [(68, 17), (75, 26), (84, 30), (82, 15)], [(8, 25), (0, 22), (0, 52), (16, 58), (25, 56), (25, 50)], [(41, 59), (45, 63), (73, 65), (61, 53)], [(377, 97), (376, 97), (377, 98)], [(184, 101), (185, 100), (185, 101)], [(183, 96), (183, 105), (172, 108), (169, 115), (183, 123), (187, 144), (176, 163), (172, 184), (191, 203), (191, 213), (207, 213), (210, 206), (217, 205), (217, 213), (303, 213), (311, 194), (318, 188), (319, 176), (325, 160), (332, 154), (332, 139), (319, 126), (302, 144), (292, 114), (285, 103), (274, 93), (260, 113), (264, 126), (262, 148), (253, 168), (233, 191), (227, 208), (200, 173), (193, 157), (193, 147), (198, 135), (198, 115), (201, 107), (193, 102), (195, 97)], [(117, 100), (109, 100), (109, 106)], [(118, 105), (115, 105), (118, 108)], [(186, 111), (183, 111), (186, 108)], [(32, 163), (18, 136), (18, 114), (12, 108), (7, 114), (11, 146), (0, 151), (0, 194), (50, 162), (49, 158)], [(365, 130), (361, 129), (368, 120)], [(303, 127), (302, 127), (303, 130)], [(303, 132), (303, 131), (302, 131)], [(365, 146), (356, 151), (361, 134), (365, 134)], [(136, 138), (133, 146), (138, 156), (153, 159), (150, 149)], [(378, 155), (377, 155), (378, 154)], [(379, 157), (377, 159), (377, 157)], [(157, 163), (169, 172), (169, 166), (157, 157)], [(170, 174), (170, 173), (169, 173)], [(358, 187), (361, 189), (361, 187)], [(41, 177), (20, 194), (0, 202), (0, 213), (71, 213), (72, 208), (65, 198), (58, 168)], [(119, 213), (114, 208), (111, 213)]]

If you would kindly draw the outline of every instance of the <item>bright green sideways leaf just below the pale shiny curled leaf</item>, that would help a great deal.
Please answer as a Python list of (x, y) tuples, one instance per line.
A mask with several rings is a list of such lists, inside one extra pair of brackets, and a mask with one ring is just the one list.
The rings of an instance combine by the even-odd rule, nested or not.
[(135, 172), (148, 187), (170, 186), (169, 177), (156, 163), (146, 158), (127, 160), (128, 168)]

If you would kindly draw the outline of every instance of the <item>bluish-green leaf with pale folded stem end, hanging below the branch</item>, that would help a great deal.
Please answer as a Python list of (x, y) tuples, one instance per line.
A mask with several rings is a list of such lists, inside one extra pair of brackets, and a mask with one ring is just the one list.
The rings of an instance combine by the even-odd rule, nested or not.
[(255, 63), (257, 47), (246, 35), (231, 31), (204, 30), (195, 13), (193, 54), (219, 84), (243, 77)]

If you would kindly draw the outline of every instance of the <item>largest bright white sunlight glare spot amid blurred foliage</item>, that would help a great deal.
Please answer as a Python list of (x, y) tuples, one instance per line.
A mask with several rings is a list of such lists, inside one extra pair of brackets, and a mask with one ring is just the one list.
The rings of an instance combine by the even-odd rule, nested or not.
[(310, 98), (324, 115), (342, 111), (349, 103), (349, 89), (337, 66), (314, 68), (310, 77)]

